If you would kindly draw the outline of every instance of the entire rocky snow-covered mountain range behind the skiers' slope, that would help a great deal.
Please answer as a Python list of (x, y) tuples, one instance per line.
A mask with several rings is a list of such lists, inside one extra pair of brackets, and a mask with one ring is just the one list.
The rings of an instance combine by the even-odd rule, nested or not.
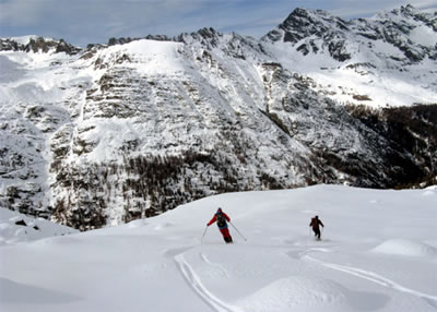
[(26, 214), (91, 229), (221, 192), (436, 183), (436, 13), (0, 47), (0, 201)]

